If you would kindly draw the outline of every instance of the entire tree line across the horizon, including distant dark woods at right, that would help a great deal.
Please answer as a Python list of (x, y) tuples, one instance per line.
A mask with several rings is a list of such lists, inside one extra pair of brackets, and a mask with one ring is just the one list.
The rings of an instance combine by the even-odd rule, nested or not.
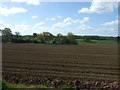
[(77, 36), (69, 32), (66, 36), (57, 34), (56, 36), (50, 32), (33, 33), (33, 35), (20, 35), (19, 32), (12, 33), (10, 28), (0, 29), (3, 43), (44, 43), (44, 44), (78, 44), (77, 39), (83, 39), (84, 42), (91, 40), (115, 40), (120, 41), (120, 37), (105, 37), (105, 36)]

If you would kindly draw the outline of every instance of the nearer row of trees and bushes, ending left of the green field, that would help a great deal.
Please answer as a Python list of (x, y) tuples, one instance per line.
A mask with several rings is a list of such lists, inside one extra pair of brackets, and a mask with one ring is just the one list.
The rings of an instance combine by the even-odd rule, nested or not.
[(33, 33), (33, 35), (20, 35), (19, 32), (12, 34), (11, 29), (4, 28), (0, 30), (2, 34), (2, 42), (12, 43), (44, 43), (44, 44), (77, 44), (76, 37), (73, 33), (69, 32), (66, 36), (57, 34), (57, 36), (50, 32), (43, 32), (40, 34)]

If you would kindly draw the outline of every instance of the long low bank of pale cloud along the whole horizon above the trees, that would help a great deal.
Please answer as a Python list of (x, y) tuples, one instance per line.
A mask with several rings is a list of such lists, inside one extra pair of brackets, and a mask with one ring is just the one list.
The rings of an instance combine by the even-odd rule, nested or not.
[[(44, 31), (51, 32), (53, 34), (67, 34), (68, 32), (72, 32), (76, 35), (102, 35), (102, 36), (113, 36), (118, 34), (118, 30), (115, 28), (94, 28), (85, 24), (77, 25), (76, 27), (69, 27), (68, 25), (65, 25), (63, 22), (56, 23), (52, 25), (51, 27), (45, 27), (44, 22), (37, 23), (35, 25), (27, 25), (27, 24), (21, 24), (21, 25), (10, 25), (5, 24), (3, 20), (0, 20), (0, 22), (4, 26), (10, 28), (12, 32), (20, 32), (21, 35), (30, 35), (35, 33), (42, 33)], [(43, 27), (44, 26), (44, 27)], [(71, 25), (70, 25), (71, 26)], [(35, 28), (36, 27), (36, 28)]]

